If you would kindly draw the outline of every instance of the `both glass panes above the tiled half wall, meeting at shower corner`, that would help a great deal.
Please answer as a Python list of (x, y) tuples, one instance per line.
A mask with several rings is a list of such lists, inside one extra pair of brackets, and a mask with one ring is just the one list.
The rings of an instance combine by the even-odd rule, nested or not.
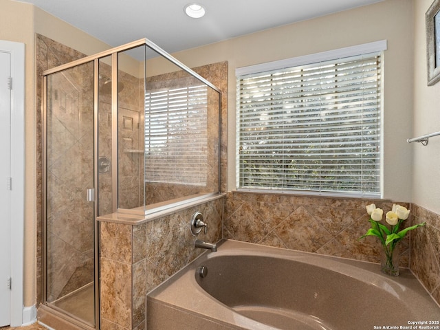
[(220, 94), (141, 46), (118, 54), (118, 209), (219, 191)]

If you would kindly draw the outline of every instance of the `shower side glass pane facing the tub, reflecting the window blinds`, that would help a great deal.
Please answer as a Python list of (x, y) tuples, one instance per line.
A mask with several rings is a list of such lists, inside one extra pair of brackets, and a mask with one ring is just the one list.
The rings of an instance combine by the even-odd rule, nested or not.
[(220, 94), (148, 49), (144, 101), (146, 208), (218, 192)]

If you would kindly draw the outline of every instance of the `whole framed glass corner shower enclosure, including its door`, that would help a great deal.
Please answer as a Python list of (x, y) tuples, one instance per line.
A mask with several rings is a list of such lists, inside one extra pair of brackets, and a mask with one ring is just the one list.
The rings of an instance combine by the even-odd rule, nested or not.
[(217, 193), (219, 109), (147, 39), (43, 72), (43, 308), (99, 329), (97, 217)]

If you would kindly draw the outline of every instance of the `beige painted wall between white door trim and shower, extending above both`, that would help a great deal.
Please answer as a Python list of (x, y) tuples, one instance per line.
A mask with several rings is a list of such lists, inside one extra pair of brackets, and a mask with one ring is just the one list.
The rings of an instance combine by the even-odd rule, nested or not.
[(25, 232), (24, 305), (36, 303), (36, 228), (41, 209), (37, 206), (36, 185), (36, 104), (35, 32), (58, 41), (67, 41), (76, 50), (94, 54), (109, 47), (84, 32), (52, 17), (28, 3), (0, 0), (0, 39), (25, 43)]

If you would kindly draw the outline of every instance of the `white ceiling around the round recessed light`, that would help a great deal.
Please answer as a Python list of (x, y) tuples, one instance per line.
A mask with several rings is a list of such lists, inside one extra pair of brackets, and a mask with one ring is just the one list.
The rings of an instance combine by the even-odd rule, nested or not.
[(117, 47), (147, 38), (168, 53), (369, 5), (383, 0), (195, 0), (206, 8), (190, 19), (191, 0), (19, 0)]

